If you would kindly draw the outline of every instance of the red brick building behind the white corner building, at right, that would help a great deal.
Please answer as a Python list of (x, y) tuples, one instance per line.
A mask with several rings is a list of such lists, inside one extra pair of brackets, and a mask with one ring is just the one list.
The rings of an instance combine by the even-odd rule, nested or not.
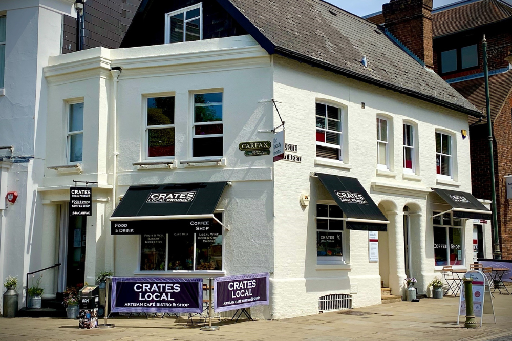
[[(512, 175), (512, 58), (508, 58), (512, 50), (512, 4), (501, 0), (466, 0), (432, 10), (432, 0), (391, 0), (383, 5), (382, 12), (366, 18), (384, 25), (426, 68), (433, 68), (483, 113), (485, 34), (495, 139), (498, 230), (503, 258), (512, 259), (512, 200), (506, 197), (504, 179)], [(470, 117), (473, 194), (490, 200), (487, 135), (486, 120)]]

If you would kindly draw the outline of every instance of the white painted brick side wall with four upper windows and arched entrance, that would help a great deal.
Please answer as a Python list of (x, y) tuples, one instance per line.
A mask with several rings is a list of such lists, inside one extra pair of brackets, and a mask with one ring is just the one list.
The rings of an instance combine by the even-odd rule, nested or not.
[[(274, 98), (286, 122), (286, 143), (298, 145), (302, 163), (279, 161), (275, 171), (275, 272), (273, 278), (274, 317), (316, 313), (318, 297), (330, 293), (349, 293), (349, 283), (358, 286), (354, 306), (380, 303), (379, 265), (368, 261), (368, 234), (350, 231), (350, 266), (316, 265), (317, 200), (329, 200), (323, 185), (311, 172), (356, 177), (380, 205), (390, 220), (388, 226), (390, 285), (394, 294), (402, 294), (404, 274), (403, 213), (408, 205), (412, 218), (412, 273), (419, 280), (419, 292), (434, 276), (431, 187), (471, 191), (467, 116), (407, 96), (387, 91), (346, 77), (336, 76), (283, 57), (274, 57)], [(347, 109), (348, 158), (341, 161), (315, 159), (315, 102), (332, 102)], [(361, 108), (361, 102), (366, 109)], [(377, 172), (376, 117), (385, 115), (393, 122), (391, 172)], [(419, 128), (419, 167), (415, 175), (403, 177), (402, 122), (414, 122)], [(274, 125), (280, 122), (274, 115)], [(454, 136), (457, 172), (452, 181), (436, 176), (435, 132), (442, 128)], [(346, 148), (347, 146), (344, 146)], [(455, 148), (454, 148), (455, 149)], [(290, 153), (294, 154), (294, 153)], [(347, 154), (347, 152), (345, 153)], [(310, 194), (304, 209), (299, 198)], [(447, 208), (449, 209), (449, 208)], [(419, 214), (419, 216), (418, 216)], [(468, 224), (469, 225), (469, 224)], [(471, 236), (471, 233), (469, 234)], [(467, 239), (468, 233), (466, 233)], [(426, 239), (426, 240), (425, 240)], [(382, 241), (381, 241), (382, 242)], [(426, 245), (425, 245), (426, 242)], [(422, 245), (419, 245), (422, 244)], [(466, 247), (466, 260), (471, 253)], [(386, 267), (383, 267), (386, 268)], [(388, 283), (387, 283), (388, 284)]]

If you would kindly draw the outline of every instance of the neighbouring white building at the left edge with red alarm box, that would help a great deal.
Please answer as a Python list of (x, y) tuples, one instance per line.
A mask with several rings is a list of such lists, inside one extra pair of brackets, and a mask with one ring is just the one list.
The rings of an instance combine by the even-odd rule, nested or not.
[[(17, 276), (20, 292), (27, 272), (55, 264), (48, 254), (54, 250), (45, 247), (55, 243), (40, 229), (38, 188), (47, 139), (42, 68), (62, 50), (63, 15), (76, 16), (72, 0), (0, 2), (0, 278)], [(17, 192), (14, 205), (7, 203), (9, 191)]]

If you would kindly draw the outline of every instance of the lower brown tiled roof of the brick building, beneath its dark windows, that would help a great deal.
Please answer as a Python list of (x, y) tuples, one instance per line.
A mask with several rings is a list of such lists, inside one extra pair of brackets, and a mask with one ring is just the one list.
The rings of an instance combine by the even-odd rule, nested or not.
[[(485, 83), (483, 77), (456, 82), (452, 86), (485, 113)], [(500, 113), (504, 102), (510, 96), (511, 89), (512, 70), (489, 76), (490, 119), (493, 122)], [(470, 123), (476, 121), (478, 121), (478, 118), (470, 117)], [(482, 122), (486, 121), (486, 119), (483, 119)]]

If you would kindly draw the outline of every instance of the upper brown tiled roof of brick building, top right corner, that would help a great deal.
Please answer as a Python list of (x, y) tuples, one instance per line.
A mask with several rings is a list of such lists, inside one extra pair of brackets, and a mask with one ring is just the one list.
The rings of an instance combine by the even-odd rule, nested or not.
[(446, 6), (432, 13), (434, 38), (512, 18), (512, 8), (499, 0), (479, 0)]

